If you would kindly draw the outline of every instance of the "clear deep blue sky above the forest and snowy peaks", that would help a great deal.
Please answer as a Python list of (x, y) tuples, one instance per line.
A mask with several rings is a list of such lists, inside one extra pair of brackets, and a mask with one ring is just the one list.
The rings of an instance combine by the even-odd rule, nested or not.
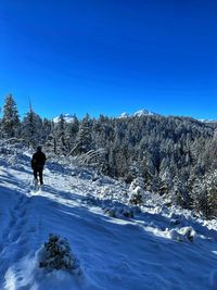
[(0, 105), (217, 118), (216, 0), (1, 0)]

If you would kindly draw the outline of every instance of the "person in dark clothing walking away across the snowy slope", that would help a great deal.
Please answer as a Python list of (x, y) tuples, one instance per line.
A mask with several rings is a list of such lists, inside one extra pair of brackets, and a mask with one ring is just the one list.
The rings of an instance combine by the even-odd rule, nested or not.
[(46, 163), (46, 154), (41, 151), (41, 147), (37, 147), (37, 152), (33, 155), (31, 159), (31, 168), (34, 169), (34, 177), (36, 184), (38, 184), (38, 175), (40, 185), (43, 185), (43, 165)]

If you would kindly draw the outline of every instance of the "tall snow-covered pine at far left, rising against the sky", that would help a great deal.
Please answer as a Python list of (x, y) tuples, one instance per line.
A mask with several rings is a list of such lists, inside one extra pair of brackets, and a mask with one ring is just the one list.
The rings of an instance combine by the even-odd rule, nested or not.
[(20, 116), (15, 100), (10, 93), (5, 97), (3, 105), (3, 117), (1, 121), (2, 137), (9, 139), (18, 136)]

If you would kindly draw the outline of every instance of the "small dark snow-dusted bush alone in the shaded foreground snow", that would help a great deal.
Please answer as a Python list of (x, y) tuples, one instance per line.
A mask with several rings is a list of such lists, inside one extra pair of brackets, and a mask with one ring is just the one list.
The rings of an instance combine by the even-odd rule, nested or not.
[(39, 252), (39, 267), (48, 270), (64, 269), (73, 272), (79, 268), (77, 257), (72, 253), (66, 238), (50, 234), (49, 241)]

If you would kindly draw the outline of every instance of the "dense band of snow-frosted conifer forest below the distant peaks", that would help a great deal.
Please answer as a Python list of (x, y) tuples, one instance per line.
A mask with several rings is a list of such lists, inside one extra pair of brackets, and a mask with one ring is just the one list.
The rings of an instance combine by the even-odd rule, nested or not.
[(143, 115), (82, 119), (66, 123), (42, 119), (33, 108), (23, 121), (16, 103), (5, 98), (1, 139), (17, 138), (42, 144), (55, 154), (75, 155), (103, 174), (145, 190), (170, 197), (186, 209), (217, 216), (217, 124), (190, 117)]

